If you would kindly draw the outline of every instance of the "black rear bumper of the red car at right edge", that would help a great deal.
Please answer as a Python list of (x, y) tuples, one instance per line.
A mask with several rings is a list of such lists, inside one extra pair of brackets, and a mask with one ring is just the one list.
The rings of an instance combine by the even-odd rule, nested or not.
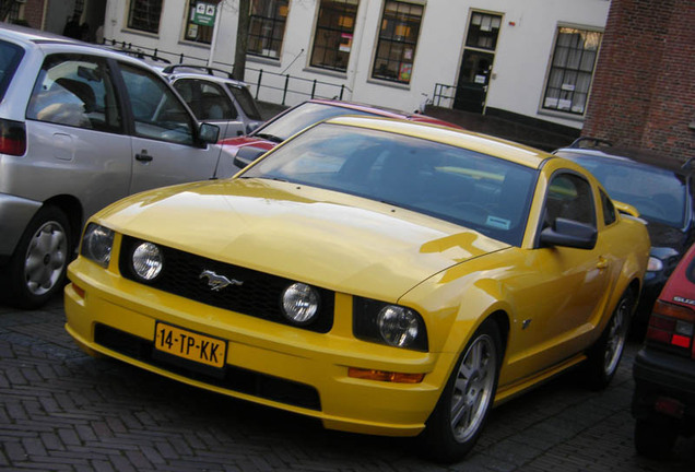
[[(695, 432), (695, 361), (644, 347), (635, 356), (633, 376), (633, 416), (668, 423), (681, 434)], [(656, 404), (660, 399), (683, 404), (682, 415), (659, 413)]]

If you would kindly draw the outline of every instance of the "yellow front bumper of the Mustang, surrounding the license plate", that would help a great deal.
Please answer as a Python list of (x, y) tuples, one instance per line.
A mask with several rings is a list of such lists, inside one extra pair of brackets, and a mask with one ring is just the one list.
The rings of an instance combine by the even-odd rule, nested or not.
[[(328, 428), (415, 436), (434, 409), (452, 354), (422, 353), (352, 335), (352, 297), (335, 294), (330, 332), (316, 333), (158, 292), (79, 258), (69, 268), (66, 329), (85, 351), (231, 397), (305, 414)], [(225, 367), (170, 363), (153, 349), (165, 322), (227, 341)], [(349, 367), (426, 374), (421, 384), (348, 376)], [(214, 369), (213, 369), (214, 370)]]

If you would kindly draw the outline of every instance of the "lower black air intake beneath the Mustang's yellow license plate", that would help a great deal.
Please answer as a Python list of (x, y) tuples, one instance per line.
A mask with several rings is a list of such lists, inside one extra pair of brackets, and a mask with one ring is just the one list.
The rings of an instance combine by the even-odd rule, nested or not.
[(321, 410), (318, 391), (305, 384), (242, 367), (226, 365), (222, 368), (215, 368), (169, 356), (155, 350), (150, 340), (101, 323), (94, 328), (94, 342), (128, 357), (178, 374), (191, 380), (294, 406), (316, 411)]

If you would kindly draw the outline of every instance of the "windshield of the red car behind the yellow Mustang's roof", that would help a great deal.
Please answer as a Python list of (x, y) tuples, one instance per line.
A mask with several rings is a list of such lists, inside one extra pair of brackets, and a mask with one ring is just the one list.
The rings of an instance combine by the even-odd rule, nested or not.
[(306, 102), (296, 108), (256, 130), (254, 134), (268, 137), (276, 142), (282, 142), (293, 134), (302, 131), (310, 125), (341, 115), (370, 115), (368, 111), (360, 111), (353, 108)]

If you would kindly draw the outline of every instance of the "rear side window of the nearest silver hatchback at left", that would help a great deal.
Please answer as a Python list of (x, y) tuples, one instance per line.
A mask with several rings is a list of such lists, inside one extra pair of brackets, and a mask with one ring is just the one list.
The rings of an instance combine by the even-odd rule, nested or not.
[(26, 118), (121, 132), (121, 114), (106, 61), (76, 55), (47, 57), (32, 91)]

